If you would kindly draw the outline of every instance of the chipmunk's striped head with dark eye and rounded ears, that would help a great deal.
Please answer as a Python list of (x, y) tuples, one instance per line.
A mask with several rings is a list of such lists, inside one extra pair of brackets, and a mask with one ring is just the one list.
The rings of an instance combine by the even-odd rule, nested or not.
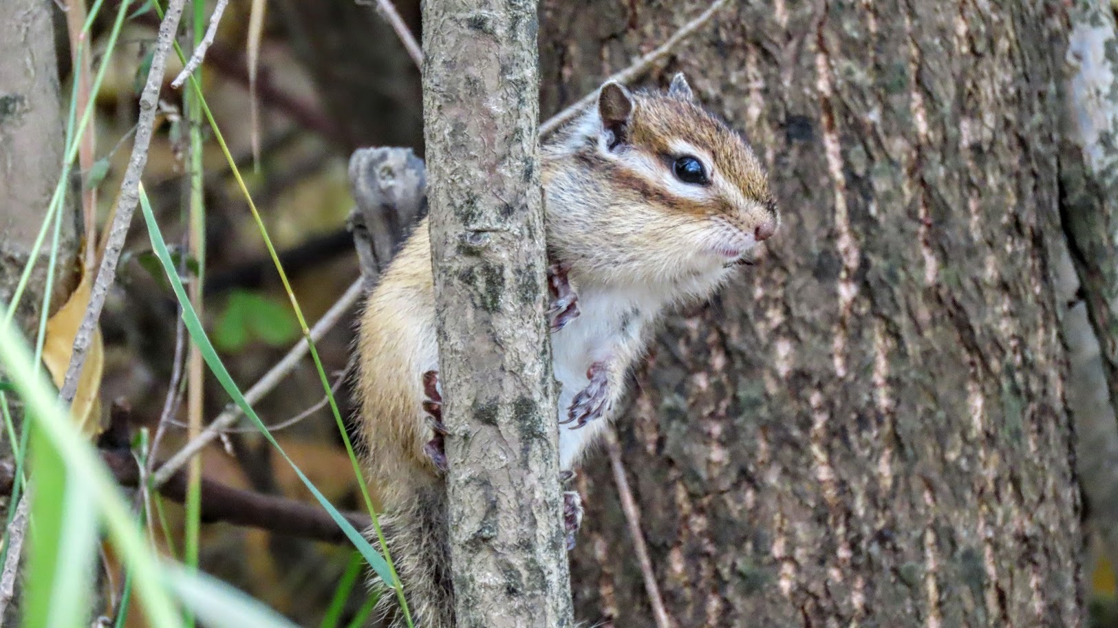
[[(606, 83), (547, 154), (549, 207), (575, 209), (548, 210), (549, 241), (597, 247), (574, 257), (616, 274), (676, 280), (721, 269), (779, 226), (760, 162), (682, 74), (666, 93)], [(567, 227), (595, 237), (574, 241)]]

